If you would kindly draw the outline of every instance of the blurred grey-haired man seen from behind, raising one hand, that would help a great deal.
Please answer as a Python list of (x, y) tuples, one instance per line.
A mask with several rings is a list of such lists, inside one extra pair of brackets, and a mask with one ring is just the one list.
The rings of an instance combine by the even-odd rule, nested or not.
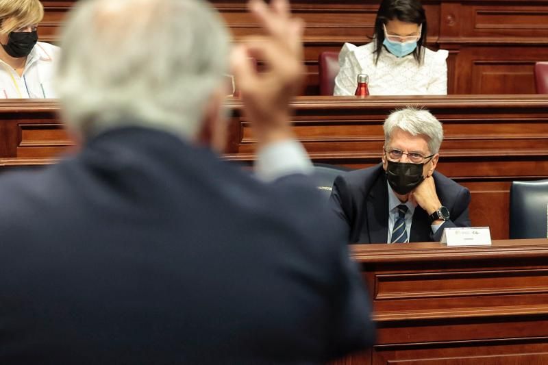
[(289, 125), (303, 23), (286, 0), (250, 8), (266, 35), (232, 72), (269, 182), (212, 151), (230, 42), (207, 1), (77, 2), (57, 88), (81, 150), (0, 178), (1, 364), (323, 364), (371, 344)]

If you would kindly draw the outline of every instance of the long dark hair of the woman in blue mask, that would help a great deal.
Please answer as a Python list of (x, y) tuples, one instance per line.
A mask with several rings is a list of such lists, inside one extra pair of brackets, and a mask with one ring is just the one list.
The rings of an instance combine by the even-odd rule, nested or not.
[(376, 43), (375, 51), (373, 52), (375, 53), (375, 64), (377, 64), (379, 55), (384, 48), (382, 45), (384, 42), (384, 29), (382, 26), (394, 19), (423, 26), (421, 38), (416, 42), (416, 49), (413, 51), (416, 62), (422, 64), (423, 45), (426, 43), (428, 27), (426, 14), (420, 0), (382, 0), (377, 12), (377, 18), (375, 19), (375, 34), (373, 35)]

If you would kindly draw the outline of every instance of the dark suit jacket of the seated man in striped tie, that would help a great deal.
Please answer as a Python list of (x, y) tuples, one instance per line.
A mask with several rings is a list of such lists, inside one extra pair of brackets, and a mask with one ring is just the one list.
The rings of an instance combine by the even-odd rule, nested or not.
[[(445, 227), (470, 227), (470, 192), (455, 181), (434, 171), (434, 183), (441, 203), (447, 207), (450, 221), (432, 234), (427, 212), (414, 210), (410, 242), (439, 241)], [(351, 171), (336, 178), (329, 205), (336, 221), (347, 232), (351, 243), (386, 243), (388, 238), (388, 186), (382, 164)]]

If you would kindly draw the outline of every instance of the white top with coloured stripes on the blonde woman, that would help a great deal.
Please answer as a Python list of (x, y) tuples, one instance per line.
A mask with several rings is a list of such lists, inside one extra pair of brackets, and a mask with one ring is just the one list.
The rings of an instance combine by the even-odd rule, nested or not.
[(0, 60), (0, 99), (50, 99), (53, 92), (53, 71), (60, 48), (38, 42), (27, 56), (23, 76)]

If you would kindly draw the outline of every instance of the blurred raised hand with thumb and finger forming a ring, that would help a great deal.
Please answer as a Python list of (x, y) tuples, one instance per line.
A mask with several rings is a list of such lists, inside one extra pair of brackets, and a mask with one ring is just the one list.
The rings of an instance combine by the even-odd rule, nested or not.
[[(304, 75), (301, 19), (292, 18), (287, 0), (248, 3), (266, 36), (247, 38), (232, 54), (232, 72), (238, 80), (245, 114), (253, 122), (260, 144), (293, 137), (290, 101), (299, 94)], [(258, 73), (249, 58), (263, 62)]]

